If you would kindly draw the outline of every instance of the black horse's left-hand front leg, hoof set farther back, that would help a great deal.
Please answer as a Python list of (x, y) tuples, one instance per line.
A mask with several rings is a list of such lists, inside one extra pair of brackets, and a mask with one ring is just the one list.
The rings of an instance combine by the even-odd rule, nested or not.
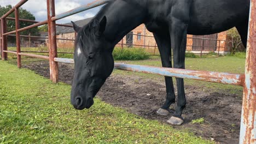
[[(171, 62), (171, 39), (169, 33), (154, 33), (156, 43), (161, 55), (162, 67), (172, 68)], [(172, 77), (165, 76), (166, 85), (166, 101), (164, 105), (156, 112), (158, 115), (167, 116), (168, 108), (175, 102), (175, 94), (173, 88)]]

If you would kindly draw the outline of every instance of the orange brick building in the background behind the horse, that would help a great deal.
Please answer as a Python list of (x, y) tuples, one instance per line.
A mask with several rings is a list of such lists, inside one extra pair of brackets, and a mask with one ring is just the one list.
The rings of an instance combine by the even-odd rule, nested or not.
[[(75, 23), (83, 27), (86, 23), (90, 22), (92, 18), (75, 21)], [(66, 25), (72, 25), (71, 23), (66, 23)], [(57, 38), (61, 39), (74, 39), (75, 32), (71, 27), (57, 26)], [(146, 37), (144, 37), (146, 35)], [(226, 46), (226, 32), (212, 34), (212, 35), (188, 35), (187, 39), (187, 51), (191, 52), (220, 52), (226, 53), (230, 49)], [(143, 47), (148, 49), (148, 51), (154, 51), (157, 47), (153, 34), (149, 32), (145, 25), (142, 24), (137, 28), (133, 29), (129, 34), (127, 34), (123, 40), (118, 43), (118, 47)], [(72, 47), (73, 41), (69, 40), (57, 40), (58, 47)]]

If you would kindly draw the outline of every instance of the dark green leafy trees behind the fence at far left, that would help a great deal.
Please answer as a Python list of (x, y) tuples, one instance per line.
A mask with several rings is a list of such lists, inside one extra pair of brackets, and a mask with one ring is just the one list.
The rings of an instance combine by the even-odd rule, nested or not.
[[(2, 7), (0, 5), (0, 16), (3, 16), (5, 13), (7, 13), (11, 9), (11, 5), (6, 5), (5, 7)], [(14, 13), (11, 13), (8, 17), (15, 17)], [(30, 13), (30, 11), (27, 11), (26, 9), (19, 8), (19, 18), (20, 19), (27, 19), (27, 20), (36, 20), (33, 14)], [(20, 28), (27, 27), (33, 25), (31, 22), (24, 22), (20, 21)], [(7, 31), (15, 31), (15, 21), (13, 20), (7, 20)], [(33, 27), (31, 29), (27, 29), (26, 31), (20, 32), (21, 35), (39, 35), (39, 31), (37, 27)]]

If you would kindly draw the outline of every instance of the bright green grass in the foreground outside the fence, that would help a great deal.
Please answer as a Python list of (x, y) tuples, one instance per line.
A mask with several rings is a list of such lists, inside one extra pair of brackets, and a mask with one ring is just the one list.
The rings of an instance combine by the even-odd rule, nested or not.
[(71, 86), (0, 61), (0, 143), (213, 143), (95, 99), (74, 110)]

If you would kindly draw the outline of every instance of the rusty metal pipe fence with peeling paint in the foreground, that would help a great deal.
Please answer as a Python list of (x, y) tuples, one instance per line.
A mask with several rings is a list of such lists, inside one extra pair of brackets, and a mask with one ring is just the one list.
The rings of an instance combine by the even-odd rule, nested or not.
[[(14, 53), (17, 55), (18, 68), (21, 68), (21, 56), (36, 57), (41, 59), (49, 60), (50, 65), (50, 79), (56, 83), (58, 82), (58, 62), (62, 63), (74, 63), (73, 59), (59, 58), (57, 57), (57, 44), (56, 44), (56, 26), (63, 26), (56, 24), (56, 20), (63, 19), (64, 17), (77, 14), (81, 11), (98, 7), (99, 5), (106, 4), (109, 0), (97, 0), (95, 2), (82, 5), (81, 7), (69, 10), (65, 13), (55, 15), (55, 1), (47, 0), (47, 16), (48, 19), (45, 21), (31, 21), (19, 19), (19, 8), (22, 4), (28, 0), (21, 0), (11, 10), (5, 13), (1, 17), (1, 51), (2, 59), (7, 60), (7, 53)], [(11, 13), (15, 13), (15, 19), (7, 17)], [(160, 68), (160, 67), (149, 67), (143, 65), (131, 65), (131, 64), (120, 64), (115, 63), (115, 69), (138, 71), (147, 74), (156, 74), (164, 76), (173, 76), (185, 79), (194, 79), (209, 82), (226, 83), (229, 85), (242, 86), (243, 91), (243, 102), (242, 102), (242, 113), (241, 113), (241, 127), (240, 127), (240, 143), (256, 143), (256, 0), (251, 0), (251, 10), (249, 18), (249, 33), (248, 33), (248, 46), (247, 46), (247, 58), (245, 74), (228, 74), (218, 73), (212, 71), (198, 71), (198, 70), (185, 70), (185, 69), (174, 69), (174, 68)], [(7, 32), (7, 20), (15, 20), (16, 30)], [(34, 24), (24, 28), (19, 28), (19, 21), (30, 21)], [(27, 52), (20, 51), (20, 37), (19, 32), (29, 28), (48, 25), (48, 41), (49, 41), (49, 56), (35, 55)], [(72, 27), (68, 26), (67, 27)], [(7, 36), (9, 34), (16, 35), (16, 51), (8, 51), (7, 48)], [(65, 39), (66, 40), (66, 39)]]

